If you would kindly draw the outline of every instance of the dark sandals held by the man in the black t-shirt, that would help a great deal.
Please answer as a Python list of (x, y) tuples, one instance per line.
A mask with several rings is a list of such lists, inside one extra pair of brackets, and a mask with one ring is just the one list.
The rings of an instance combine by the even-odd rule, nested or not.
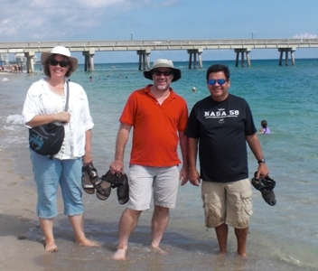
[(264, 201), (266, 201), (270, 206), (276, 205), (275, 193), (273, 191), (276, 186), (276, 182), (273, 179), (269, 178), (268, 175), (266, 177), (259, 176), (257, 179), (257, 172), (255, 172), (254, 178), (252, 178), (251, 182), (254, 188), (262, 193)]

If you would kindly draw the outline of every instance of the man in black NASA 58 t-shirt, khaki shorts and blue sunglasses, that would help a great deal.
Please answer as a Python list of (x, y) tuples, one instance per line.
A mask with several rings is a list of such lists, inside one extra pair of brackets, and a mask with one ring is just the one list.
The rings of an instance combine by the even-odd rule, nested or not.
[[(195, 186), (202, 180), (205, 226), (215, 228), (220, 253), (227, 253), (229, 225), (235, 231), (238, 254), (247, 257), (252, 191), (246, 142), (258, 162), (257, 178), (267, 176), (268, 169), (248, 103), (228, 92), (229, 68), (212, 65), (206, 79), (210, 96), (192, 107), (184, 133), (189, 136), (189, 180)], [(198, 149), (200, 175), (196, 169)]]

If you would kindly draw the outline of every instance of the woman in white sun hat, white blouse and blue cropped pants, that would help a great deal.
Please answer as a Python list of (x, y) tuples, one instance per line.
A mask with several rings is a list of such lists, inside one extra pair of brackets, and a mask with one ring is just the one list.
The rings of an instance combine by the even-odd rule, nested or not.
[(37, 186), (37, 214), (45, 237), (44, 248), (58, 251), (53, 237), (53, 218), (58, 214), (56, 193), (59, 184), (64, 201), (64, 214), (69, 217), (75, 241), (81, 246), (100, 245), (85, 237), (81, 200), (81, 168), (92, 162), (91, 128), (87, 95), (79, 84), (69, 82), (69, 110), (64, 112), (67, 78), (76, 70), (78, 60), (69, 49), (54, 47), (41, 56), (46, 78), (34, 82), (23, 105), (23, 123), (31, 128), (54, 122), (65, 126), (61, 151), (52, 159), (30, 149), (34, 180)]

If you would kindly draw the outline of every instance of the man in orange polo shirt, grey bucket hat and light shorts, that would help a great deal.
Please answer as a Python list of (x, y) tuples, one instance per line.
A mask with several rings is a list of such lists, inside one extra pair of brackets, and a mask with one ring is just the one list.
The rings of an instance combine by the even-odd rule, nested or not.
[[(114, 259), (126, 258), (130, 234), (136, 229), (140, 214), (150, 208), (154, 189), (151, 248), (159, 248), (169, 222), (169, 209), (174, 208), (179, 180), (188, 181), (187, 144), (183, 135), (188, 119), (185, 100), (170, 84), (181, 78), (181, 70), (173, 68), (173, 61), (154, 61), (153, 69), (144, 71), (153, 84), (138, 89), (129, 96), (119, 118), (115, 160), (111, 173), (124, 173), (124, 152), (128, 135), (133, 128), (130, 156), (129, 201), (119, 221), (119, 242)], [(179, 136), (178, 136), (179, 135)], [(180, 141), (182, 168), (179, 173), (177, 146)]]

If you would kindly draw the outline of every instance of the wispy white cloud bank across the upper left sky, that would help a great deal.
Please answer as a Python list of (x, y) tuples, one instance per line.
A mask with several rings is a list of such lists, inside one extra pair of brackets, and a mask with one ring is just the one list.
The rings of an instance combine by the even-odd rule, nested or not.
[[(0, 0), (2, 42), (85, 39), (117, 27), (129, 11), (165, 8), (181, 0)], [(133, 14), (133, 13), (131, 13)], [(123, 23), (129, 23), (123, 20)]]

